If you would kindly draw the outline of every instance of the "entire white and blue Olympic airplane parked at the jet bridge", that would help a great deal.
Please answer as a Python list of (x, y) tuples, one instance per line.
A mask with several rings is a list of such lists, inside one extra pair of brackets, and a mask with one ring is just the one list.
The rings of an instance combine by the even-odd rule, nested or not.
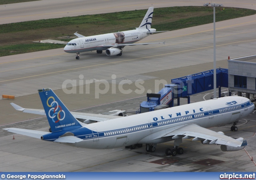
[[(41, 140), (61, 142), (80, 148), (106, 149), (120, 146), (146, 144), (146, 151), (154, 152), (156, 144), (174, 140), (174, 147), (167, 148), (166, 155), (182, 154), (178, 146), (182, 139), (200, 140), (202, 144), (220, 144), (222, 151), (243, 149), (243, 138), (232, 138), (222, 132), (206, 128), (233, 123), (248, 116), (254, 104), (245, 97), (222, 97), (128, 117), (92, 115), (68, 111), (50, 88), (38, 90), (44, 110), (25, 109), (12, 103), (17, 110), (46, 115), (52, 133), (20, 128), (6, 128), (12, 133)], [(76, 118), (97, 123), (81, 123)]]

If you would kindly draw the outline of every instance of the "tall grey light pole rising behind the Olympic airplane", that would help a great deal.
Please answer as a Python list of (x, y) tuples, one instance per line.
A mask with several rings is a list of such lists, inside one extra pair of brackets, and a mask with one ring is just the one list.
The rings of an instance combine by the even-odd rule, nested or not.
[(215, 36), (215, 5), (213, 6), (213, 99), (216, 99), (216, 36)]

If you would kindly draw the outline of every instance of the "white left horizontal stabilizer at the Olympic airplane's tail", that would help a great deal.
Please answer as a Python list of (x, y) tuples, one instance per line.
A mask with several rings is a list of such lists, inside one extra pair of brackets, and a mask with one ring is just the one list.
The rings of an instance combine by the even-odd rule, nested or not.
[(8, 132), (11, 132), (11, 133), (17, 133), (20, 135), (30, 136), (38, 139), (41, 139), (42, 135), (49, 134), (48, 132), (44, 132), (44, 131), (35, 131), (35, 130), (20, 129), (20, 128), (5, 128), (4, 130), (7, 130)]

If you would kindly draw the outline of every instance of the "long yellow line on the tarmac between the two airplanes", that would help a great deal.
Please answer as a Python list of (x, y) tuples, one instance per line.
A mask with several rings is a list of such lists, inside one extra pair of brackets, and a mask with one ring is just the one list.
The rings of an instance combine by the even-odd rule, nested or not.
[[(227, 44), (220, 44), (220, 45), (216, 45), (216, 46), (222, 46), (222, 45), (228, 45), (228, 44), (236, 44), (236, 43), (241, 43), (241, 42), (250, 42), (250, 41), (255, 41), (255, 40), (246, 40), (246, 41), (240, 41), (240, 42), (233, 42), (233, 43), (227, 43)], [(44, 73), (44, 74), (38, 74), (38, 75), (20, 77), (20, 78), (16, 78), (16, 79), (4, 80), (4, 81), (0, 81), (0, 83), (2, 83), (2, 82), (7, 82), (7, 81), (14, 81), (14, 80), (18, 80), (18, 79), (25, 79), (25, 78), (30, 78), (30, 77), (37, 77), (37, 76), (42, 76), (42, 75), (49, 75), (49, 74), (54, 74), (54, 73), (61, 73), (61, 72), (72, 71), (72, 70), (77, 70), (77, 69), (85, 69), (85, 68), (88, 68), (88, 67), (96, 67), (96, 66), (114, 64), (114, 63), (121, 63), (121, 62), (126, 62), (126, 61), (134, 61), (134, 60), (139, 60), (139, 59), (148, 59), (148, 58), (150, 58), (150, 57), (158, 57), (158, 56), (162, 56), (162, 55), (170, 55), (170, 54), (175, 54), (175, 53), (194, 51), (194, 50), (198, 50), (198, 49), (206, 49), (206, 48), (210, 48), (210, 47), (213, 47), (213, 46), (200, 47), (200, 48), (196, 48), (196, 49), (188, 49), (188, 50), (184, 50), (184, 51), (177, 51), (177, 52), (172, 52), (172, 53), (165, 53), (165, 54), (159, 54), (159, 55), (152, 55), (152, 56), (148, 56), (148, 57), (140, 57), (140, 58), (135, 58), (135, 59), (126, 59), (126, 60), (115, 61), (115, 62), (110, 62), (110, 63), (102, 63), (102, 64), (96, 64), (96, 65), (90, 65), (90, 66), (84, 66), (84, 67), (77, 67), (77, 68), (66, 69), (66, 70), (62, 70), (62, 71), (55, 71), (55, 72), (50, 72), (50, 73)]]

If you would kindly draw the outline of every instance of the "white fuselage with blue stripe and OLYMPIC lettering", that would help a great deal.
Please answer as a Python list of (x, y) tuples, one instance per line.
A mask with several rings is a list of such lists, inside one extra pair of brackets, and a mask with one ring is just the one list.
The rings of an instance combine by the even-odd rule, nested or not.
[[(74, 136), (83, 139), (69, 144), (82, 148), (115, 148), (131, 144), (157, 144), (172, 140), (164, 137), (190, 123), (204, 128), (233, 123), (249, 115), (254, 104), (244, 97), (222, 97), (198, 103), (92, 123), (73, 130)], [(65, 132), (61, 132), (62, 135)], [(51, 139), (55, 140), (54, 133)], [(60, 134), (56, 132), (56, 138)]]

